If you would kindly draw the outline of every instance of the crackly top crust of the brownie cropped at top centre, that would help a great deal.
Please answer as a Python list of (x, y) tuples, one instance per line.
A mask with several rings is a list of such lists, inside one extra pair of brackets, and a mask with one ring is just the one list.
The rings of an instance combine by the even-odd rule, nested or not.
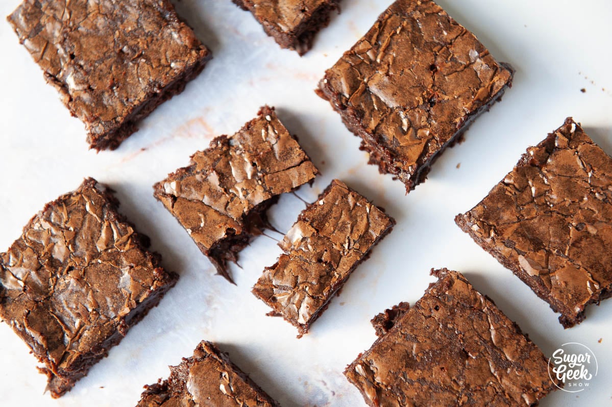
[(243, 0), (260, 23), (272, 24), (277, 31), (296, 34), (321, 5), (330, 0)]

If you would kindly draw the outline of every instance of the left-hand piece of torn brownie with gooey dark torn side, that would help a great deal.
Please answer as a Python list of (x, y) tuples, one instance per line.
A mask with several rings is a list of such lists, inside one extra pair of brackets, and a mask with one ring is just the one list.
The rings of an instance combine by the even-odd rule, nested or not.
[(278, 195), (312, 182), (315, 165), (274, 108), (264, 106), (231, 137), (212, 140), (191, 164), (154, 185), (154, 195), (191, 235), (221, 274), (228, 260), (268, 225)]

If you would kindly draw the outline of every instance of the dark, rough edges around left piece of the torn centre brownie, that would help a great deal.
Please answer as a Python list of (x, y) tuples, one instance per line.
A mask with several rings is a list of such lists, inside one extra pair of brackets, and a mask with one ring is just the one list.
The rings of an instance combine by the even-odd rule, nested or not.
[[(274, 107), (267, 106), (267, 105), (262, 106), (261, 108), (259, 108), (259, 111), (257, 112), (257, 117), (245, 123), (245, 125), (239, 131), (246, 130), (252, 125), (253, 122), (255, 122), (255, 120), (258, 120), (259, 117), (272, 114), (274, 113), (274, 111), (275, 111)], [(291, 134), (289, 130), (287, 130), (287, 132), (289, 136), (291, 136), (291, 138), (297, 141), (297, 137), (294, 134)], [(211, 144), (214, 144), (216, 140), (225, 140), (225, 139), (230, 139), (230, 136), (227, 136), (227, 135), (218, 136), (213, 141), (211, 141)], [(304, 149), (302, 149), (302, 151), (304, 152), (304, 155), (305, 155), (304, 161), (308, 160), (312, 162), (312, 160), (310, 159), (310, 156), (308, 156), (308, 153)], [(166, 177), (166, 179), (181, 177), (181, 175), (189, 175), (190, 171), (192, 171), (193, 168), (195, 168), (195, 164), (191, 164), (187, 167), (179, 168), (177, 171), (174, 171), (171, 174), (168, 174), (168, 177)], [(313, 168), (315, 169), (315, 176), (316, 176), (316, 174), (319, 173), (318, 169), (316, 169), (316, 167), (314, 166)], [(312, 178), (308, 182), (308, 185), (312, 186), (312, 183), (314, 182), (314, 180), (315, 179)], [(159, 200), (160, 202), (163, 202), (163, 199), (166, 199), (173, 203), (176, 202), (176, 197), (170, 194), (166, 194), (163, 183), (164, 181), (161, 181), (153, 185), (153, 189), (154, 189), (153, 194), (155, 198)], [(297, 189), (300, 188), (300, 186), (301, 185), (296, 186), (295, 188), (291, 189), (291, 191), (289, 192), (296, 191)], [(242, 251), (242, 249), (247, 247), (248, 244), (253, 240), (253, 238), (255, 238), (258, 235), (261, 235), (263, 233), (263, 229), (275, 230), (274, 227), (272, 227), (272, 225), (268, 221), (267, 210), (269, 210), (269, 208), (271, 208), (272, 205), (276, 204), (279, 198), (280, 198), (280, 195), (272, 196), (271, 198), (266, 199), (263, 202), (261, 202), (261, 204), (256, 205), (256, 207), (248, 211), (247, 214), (242, 215), (241, 221), (242, 221), (242, 224), (244, 225), (244, 232), (239, 233), (238, 235), (235, 234), (235, 231), (234, 233), (230, 232), (230, 236), (220, 241), (217, 241), (215, 246), (213, 246), (210, 249), (206, 249), (202, 244), (194, 240), (194, 243), (198, 246), (198, 249), (200, 249), (200, 251), (211, 260), (212, 265), (214, 265), (215, 270), (217, 270), (217, 274), (225, 277), (225, 279), (231, 282), (231, 284), (236, 285), (236, 282), (234, 282), (233, 277), (228, 271), (228, 262), (238, 264), (238, 253)], [(178, 219), (176, 220), (178, 221)], [(233, 230), (233, 229), (228, 229), (228, 230)]]

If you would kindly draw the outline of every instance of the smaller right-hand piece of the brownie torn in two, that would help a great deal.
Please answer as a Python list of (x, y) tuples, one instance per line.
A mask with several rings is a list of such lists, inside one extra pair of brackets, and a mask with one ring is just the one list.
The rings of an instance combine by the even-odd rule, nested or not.
[(302, 337), (394, 225), (382, 208), (334, 180), (278, 243), (285, 253), (266, 268), (253, 294)]

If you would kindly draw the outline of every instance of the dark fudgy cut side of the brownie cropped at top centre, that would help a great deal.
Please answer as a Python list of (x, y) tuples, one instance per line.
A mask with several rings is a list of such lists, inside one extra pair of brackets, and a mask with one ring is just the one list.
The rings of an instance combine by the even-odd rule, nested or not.
[[(250, 4), (249, 0), (232, 1), (242, 10), (248, 12), (250, 12), (254, 7)], [(274, 38), (281, 48), (294, 50), (299, 54), (299, 56), (303, 56), (312, 48), (315, 35), (318, 34), (321, 29), (324, 29), (329, 25), (329, 21), (331, 19), (330, 14), (334, 10), (338, 10), (339, 12), (339, 3), (340, 0), (329, 0), (324, 4), (319, 5), (319, 7), (312, 12), (310, 18), (299, 24), (299, 26), (297, 26), (293, 32), (280, 31), (278, 30), (276, 24), (269, 23), (268, 21), (258, 21), (258, 23), (263, 26), (266, 34)]]

